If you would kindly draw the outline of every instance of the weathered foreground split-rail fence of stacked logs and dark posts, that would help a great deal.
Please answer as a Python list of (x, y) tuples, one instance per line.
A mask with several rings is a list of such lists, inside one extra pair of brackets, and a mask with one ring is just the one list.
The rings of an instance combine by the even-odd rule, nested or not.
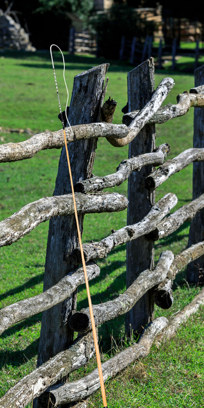
[[(139, 341), (102, 364), (104, 380), (145, 357), (153, 341), (157, 344), (173, 336), (189, 315), (204, 304), (204, 289), (172, 320), (154, 319), (154, 303), (169, 308), (173, 303), (172, 281), (188, 265), (190, 283), (198, 283), (204, 262), (204, 66), (195, 71), (195, 88), (178, 95), (177, 104), (162, 106), (174, 86), (164, 78), (154, 91), (154, 62), (148, 59), (128, 73), (128, 113), (123, 124), (113, 125), (116, 102), (103, 103), (108, 64), (94, 67), (74, 79), (69, 120), (66, 128), (76, 191), (81, 233), (84, 214), (123, 211), (128, 207), (127, 226), (112, 230), (100, 242), (83, 245), (88, 279), (100, 275), (97, 259), (116, 246), (127, 243), (127, 290), (113, 301), (93, 306), (96, 326), (125, 314), (126, 331), (141, 333)], [(166, 160), (168, 143), (155, 147), (155, 124), (194, 110), (194, 145), (172, 160)], [(83, 107), (83, 109), (82, 109)], [(98, 137), (115, 147), (129, 144), (128, 159), (116, 173), (92, 175)], [(167, 141), (168, 142), (168, 141)], [(67, 382), (69, 373), (84, 366), (94, 355), (88, 309), (77, 312), (77, 287), (84, 283), (78, 248), (74, 206), (68, 176), (63, 131), (34, 135), (24, 142), (0, 146), (0, 161), (32, 157), (43, 149), (60, 149), (53, 197), (29, 203), (0, 222), (0, 246), (11, 245), (40, 223), (50, 220), (43, 293), (0, 310), (0, 333), (34, 314), (43, 312), (37, 368), (10, 388), (0, 399), (0, 408), (24, 408), (34, 399), (39, 407), (73, 403), (86, 407), (86, 399), (99, 388), (97, 370)], [(193, 201), (167, 214), (177, 204), (174, 192), (155, 204), (155, 189), (193, 162)], [(155, 166), (160, 166), (155, 170)], [(128, 179), (128, 199), (102, 190)], [(154, 241), (176, 231), (190, 221), (188, 248), (175, 256), (164, 251), (154, 267)], [(200, 265), (200, 269), (193, 261)], [(78, 332), (73, 341), (74, 332)], [(83, 400), (83, 402), (80, 402)], [(69, 405), (70, 407), (71, 405)]]

